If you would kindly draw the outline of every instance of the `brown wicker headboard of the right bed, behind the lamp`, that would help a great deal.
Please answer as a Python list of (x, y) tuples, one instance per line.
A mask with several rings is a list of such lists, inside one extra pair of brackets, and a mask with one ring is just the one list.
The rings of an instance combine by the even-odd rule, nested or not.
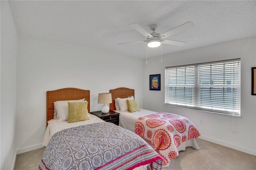
[(112, 103), (109, 104), (110, 110), (116, 110), (115, 107), (115, 99), (116, 98), (128, 98), (130, 96), (134, 96), (134, 89), (120, 87), (116, 89), (109, 90), (112, 96)]

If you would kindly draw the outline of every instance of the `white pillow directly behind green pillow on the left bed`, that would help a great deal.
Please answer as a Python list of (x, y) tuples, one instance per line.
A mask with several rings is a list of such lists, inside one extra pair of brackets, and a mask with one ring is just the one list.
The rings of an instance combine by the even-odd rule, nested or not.
[(54, 102), (54, 119), (62, 119), (63, 121), (68, 120), (68, 102), (86, 102), (84, 100), (85, 99)]

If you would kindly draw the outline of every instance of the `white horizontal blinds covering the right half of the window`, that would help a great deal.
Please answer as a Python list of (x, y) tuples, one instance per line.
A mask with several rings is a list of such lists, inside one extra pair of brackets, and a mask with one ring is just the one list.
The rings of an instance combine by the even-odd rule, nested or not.
[(199, 66), (200, 105), (240, 112), (240, 61)]

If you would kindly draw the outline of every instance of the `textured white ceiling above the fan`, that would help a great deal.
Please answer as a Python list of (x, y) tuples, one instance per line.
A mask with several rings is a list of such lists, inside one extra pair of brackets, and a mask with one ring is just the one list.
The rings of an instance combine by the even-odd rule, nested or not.
[[(256, 1), (9, 1), (18, 33), (145, 58), (146, 43), (117, 45), (146, 37), (128, 26), (164, 33), (188, 21), (196, 26), (167, 39), (168, 54), (256, 35)], [(149, 48), (148, 57), (160, 55)]]

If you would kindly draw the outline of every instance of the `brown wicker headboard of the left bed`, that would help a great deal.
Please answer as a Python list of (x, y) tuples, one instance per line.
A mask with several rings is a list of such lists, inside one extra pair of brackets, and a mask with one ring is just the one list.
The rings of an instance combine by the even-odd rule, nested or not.
[(63, 100), (83, 99), (88, 102), (88, 112), (90, 113), (90, 90), (78, 88), (62, 88), (59, 90), (46, 92), (46, 126), (48, 121), (54, 117), (54, 102)]

